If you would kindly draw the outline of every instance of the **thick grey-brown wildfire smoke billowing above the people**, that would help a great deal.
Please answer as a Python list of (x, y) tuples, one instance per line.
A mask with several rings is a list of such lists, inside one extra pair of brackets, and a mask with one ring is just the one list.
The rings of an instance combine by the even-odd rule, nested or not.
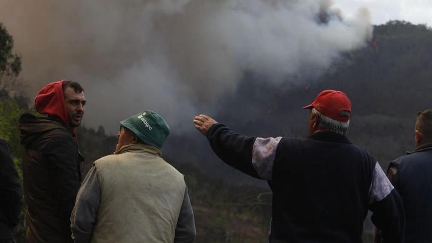
[(244, 72), (276, 85), (319, 75), (372, 36), (367, 10), (346, 20), (329, 0), (0, 1), (0, 22), (22, 55), (28, 96), (79, 81), (84, 124), (111, 133), (143, 109), (187, 131)]

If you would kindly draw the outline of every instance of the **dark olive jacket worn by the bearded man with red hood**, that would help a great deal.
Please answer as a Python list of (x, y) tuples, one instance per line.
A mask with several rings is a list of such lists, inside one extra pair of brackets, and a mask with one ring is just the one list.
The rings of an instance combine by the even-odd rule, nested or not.
[(81, 186), (81, 162), (71, 129), (54, 118), (20, 117), (27, 243), (72, 242), (70, 216)]

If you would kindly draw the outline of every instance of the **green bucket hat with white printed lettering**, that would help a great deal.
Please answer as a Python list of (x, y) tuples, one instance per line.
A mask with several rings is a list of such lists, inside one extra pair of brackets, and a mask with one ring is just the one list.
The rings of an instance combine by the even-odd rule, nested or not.
[(131, 130), (143, 142), (158, 149), (162, 148), (163, 142), (170, 133), (165, 120), (151, 110), (144, 110), (121, 121), (120, 124)]

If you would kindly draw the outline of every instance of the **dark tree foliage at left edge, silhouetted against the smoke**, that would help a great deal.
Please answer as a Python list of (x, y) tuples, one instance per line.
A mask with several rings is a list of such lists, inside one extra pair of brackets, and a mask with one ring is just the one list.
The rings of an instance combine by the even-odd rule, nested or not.
[(21, 57), (12, 54), (13, 39), (0, 23), (0, 78), (18, 76), (21, 71)]

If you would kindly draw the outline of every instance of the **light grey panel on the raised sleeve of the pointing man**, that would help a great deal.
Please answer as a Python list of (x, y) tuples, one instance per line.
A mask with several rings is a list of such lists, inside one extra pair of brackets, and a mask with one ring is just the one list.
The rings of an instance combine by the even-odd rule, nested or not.
[(276, 149), (282, 137), (257, 137), (252, 149), (252, 165), (258, 175), (270, 181), (273, 171), (274, 158), (276, 157)]

